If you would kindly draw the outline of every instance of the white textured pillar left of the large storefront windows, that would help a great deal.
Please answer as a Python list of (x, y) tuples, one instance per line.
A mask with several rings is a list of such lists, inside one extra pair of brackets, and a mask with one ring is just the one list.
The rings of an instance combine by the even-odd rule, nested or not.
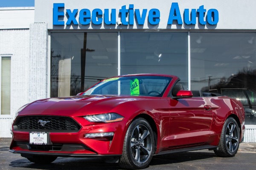
[(32, 23), (29, 28), (29, 103), (47, 98), (48, 39), (47, 23)]

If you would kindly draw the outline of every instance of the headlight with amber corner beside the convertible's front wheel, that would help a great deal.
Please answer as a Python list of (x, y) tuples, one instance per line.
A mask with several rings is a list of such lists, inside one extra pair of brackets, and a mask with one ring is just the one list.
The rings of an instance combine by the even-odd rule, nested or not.
[(110, 123), (115, 121), (122, 121), (124, 117), (122, 117), (117, 113), (105, 113), (100, 115), (88, 115), (88, 116), (84, 116), (84, 118), (90, 122)]

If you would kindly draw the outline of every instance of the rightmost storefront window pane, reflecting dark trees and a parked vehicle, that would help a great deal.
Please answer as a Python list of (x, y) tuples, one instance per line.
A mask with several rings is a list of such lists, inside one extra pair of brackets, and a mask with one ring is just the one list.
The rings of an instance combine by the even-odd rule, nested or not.
[(256, 34), (191, 33), (191, 89), (242, 101), (245, 124), (256, 124)]

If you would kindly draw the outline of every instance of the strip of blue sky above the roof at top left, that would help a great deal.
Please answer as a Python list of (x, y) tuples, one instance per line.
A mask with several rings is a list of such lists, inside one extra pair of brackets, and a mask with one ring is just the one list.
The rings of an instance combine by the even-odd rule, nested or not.
[(0, 0), (0, 7), (35, 6), (35, 0)]

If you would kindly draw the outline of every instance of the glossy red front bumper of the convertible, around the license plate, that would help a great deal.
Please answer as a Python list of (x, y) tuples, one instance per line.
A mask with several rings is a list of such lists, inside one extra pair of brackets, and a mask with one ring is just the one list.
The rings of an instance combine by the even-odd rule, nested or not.
[[(21, 156), (29, 155), (41, 156), (61, 156), (61, 157), (104, 157), (121, 156), (125, 124), (122, 120), (112, 123), (91, 123), (84, 118), (74, 118), (81, 129), (78, 132), (49, 133), (49, 145), (31, 145), (29, 144), (28, 131), (13, 130), (13, 140), (10, 145), (10, 152), (20, 153)], [(38, 130), (34, 130), (38, 131)], [(44, 130), (45, 131), (45, 130)], [(113, 137), (85, 138), (87, 133), (113, 132)]]

